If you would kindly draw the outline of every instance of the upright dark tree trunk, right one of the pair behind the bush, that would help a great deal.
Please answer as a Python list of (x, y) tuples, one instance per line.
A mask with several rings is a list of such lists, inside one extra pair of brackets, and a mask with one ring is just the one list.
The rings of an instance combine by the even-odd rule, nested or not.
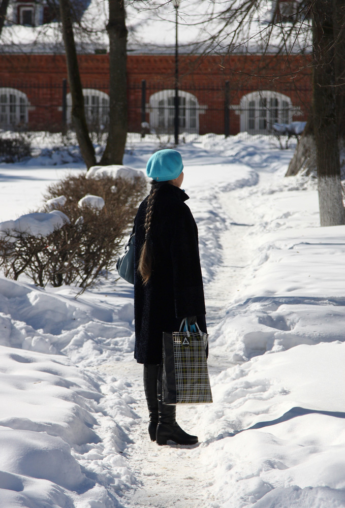
[(127, 28), (123, 0), (109, 0), (109, 136), (101, 164), (122, 164), (127, 137)]

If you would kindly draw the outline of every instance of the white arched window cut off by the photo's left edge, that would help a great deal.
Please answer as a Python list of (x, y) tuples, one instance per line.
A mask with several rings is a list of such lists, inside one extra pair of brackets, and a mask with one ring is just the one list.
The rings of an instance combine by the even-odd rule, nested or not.
[(28, 100), (15, 88), (0, 88), (0, 126), (4, 129), (27, 123)]

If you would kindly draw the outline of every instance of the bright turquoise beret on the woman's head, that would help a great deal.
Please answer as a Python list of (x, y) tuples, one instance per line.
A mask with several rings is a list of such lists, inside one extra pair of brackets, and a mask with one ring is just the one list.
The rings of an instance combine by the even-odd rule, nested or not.
[(159, 150), (150, 156), (146, 174), (152, 180), (166, 182), (177, 178), (183, 170), (182, 157), (176, 150)]

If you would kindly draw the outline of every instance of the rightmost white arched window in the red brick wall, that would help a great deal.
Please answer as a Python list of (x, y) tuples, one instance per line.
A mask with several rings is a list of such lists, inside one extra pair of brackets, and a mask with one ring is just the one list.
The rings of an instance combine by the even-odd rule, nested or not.
[(240, 101), (241, 132), (266, 133), (273, 123), (291, 123), (292, 104), (283, 93), (261, 90), (248, 93)]

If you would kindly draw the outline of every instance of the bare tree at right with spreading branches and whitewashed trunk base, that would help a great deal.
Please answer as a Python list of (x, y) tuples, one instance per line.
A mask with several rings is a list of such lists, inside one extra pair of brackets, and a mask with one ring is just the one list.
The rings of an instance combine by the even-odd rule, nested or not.
[[(338, 133), (345, 131), (345, 0), (272, 0), (272, 9), (265, 0), (231, 0), (225, 7), (216, 0), (211, 3), (216, 6), (210, 19), (215, 30), (208, 28), (207, 33), (213, 51), (286, 55), (288, 69), (293, 53), (308, 53), (305, 67), (313, 69), (312, 110), (290, 174), (316, 161), (321, 225), (345, 224), (338, 146)], [(265, 75), (265, 58), (261, 61), (253, 76), (277, 81), (279, 74)], [(291, 74), (296, 76), (295, 71)]]

